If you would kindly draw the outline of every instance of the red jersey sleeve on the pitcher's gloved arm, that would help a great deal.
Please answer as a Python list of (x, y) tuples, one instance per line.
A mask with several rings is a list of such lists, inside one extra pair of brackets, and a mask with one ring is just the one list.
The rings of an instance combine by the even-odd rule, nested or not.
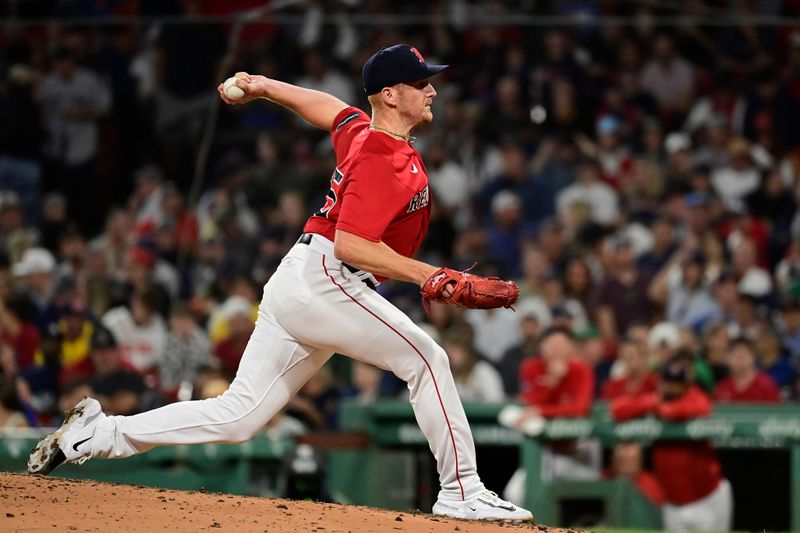
[(397, 179), (391, 158), (391, 154), (368, 153), (350, 169), (336, 229), (372, 242), (383, 238), (415, 193)]

